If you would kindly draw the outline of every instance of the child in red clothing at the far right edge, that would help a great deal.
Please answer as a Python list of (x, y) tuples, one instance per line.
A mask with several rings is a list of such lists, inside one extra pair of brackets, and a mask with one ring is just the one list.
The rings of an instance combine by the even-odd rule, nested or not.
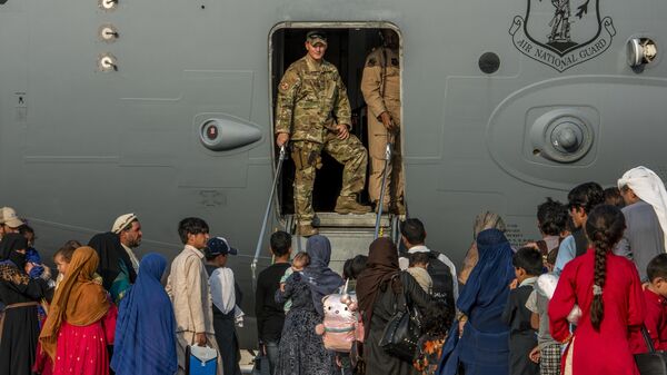
[[(644, 325), (653, 339), (656, 351), (667, 351), (667, 254), (653, 258), (646, 267), (649, 283), (644, 289), (646, 316)], [(635, 353), (646, 353), (648, 348), (641, 335), (634, 335)]]

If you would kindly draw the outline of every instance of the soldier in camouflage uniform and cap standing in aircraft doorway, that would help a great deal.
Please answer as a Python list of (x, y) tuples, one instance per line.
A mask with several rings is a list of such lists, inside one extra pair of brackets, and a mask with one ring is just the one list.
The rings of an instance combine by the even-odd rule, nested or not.
[(311, 236), (318, 233), (312, 225), (312, 186), (322, 150), (345, 165), (336, 213), (365, 214), (370, 207), (357, 203), (366, 184), (368, 155), (349, 132), (350, 102), (338, 70), (323, 59), (325, 34), (308, 32), (306, 49), (308, 53), (287, 69), (278, 87), (276, 142), (280, 147), (291, 140), (298, 233)]

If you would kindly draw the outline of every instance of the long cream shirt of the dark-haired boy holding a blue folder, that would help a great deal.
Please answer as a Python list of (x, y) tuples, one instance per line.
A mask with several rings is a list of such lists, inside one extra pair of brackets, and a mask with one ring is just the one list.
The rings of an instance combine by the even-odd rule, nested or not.
[(211, 294), (202, 251), (186, 245), (171, 263), (166, 289), (173, 305), (176, 332), (215, 334)]

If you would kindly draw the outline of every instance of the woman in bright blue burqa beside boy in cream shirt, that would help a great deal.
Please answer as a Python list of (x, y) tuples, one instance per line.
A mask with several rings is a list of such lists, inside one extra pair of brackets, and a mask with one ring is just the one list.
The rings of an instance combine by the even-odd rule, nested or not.
[(148, 254), (120, 303), (111, 368), (117, 375), (172, 375), (178, 369), (176, 318), (160, 279), (167, 259)]

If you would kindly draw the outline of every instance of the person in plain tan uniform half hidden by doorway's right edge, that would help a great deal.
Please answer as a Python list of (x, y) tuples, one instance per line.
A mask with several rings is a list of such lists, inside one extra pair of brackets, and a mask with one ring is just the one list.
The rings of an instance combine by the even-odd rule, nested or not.
[(368, 154), (370, 176), (368, 194), (379, 206), (382, 175), (385, 171), (387, 141), (391, 142), (391, 162), (387, 179), (382, 211), (390, 208), (405, 214), (404, 170), (400, 154), (400, 67), (398, 36), (392, 30), (382, 30), (384, 46), (376, 48), (366, 58), (361, 78), (361, 92), (368, 105)]

